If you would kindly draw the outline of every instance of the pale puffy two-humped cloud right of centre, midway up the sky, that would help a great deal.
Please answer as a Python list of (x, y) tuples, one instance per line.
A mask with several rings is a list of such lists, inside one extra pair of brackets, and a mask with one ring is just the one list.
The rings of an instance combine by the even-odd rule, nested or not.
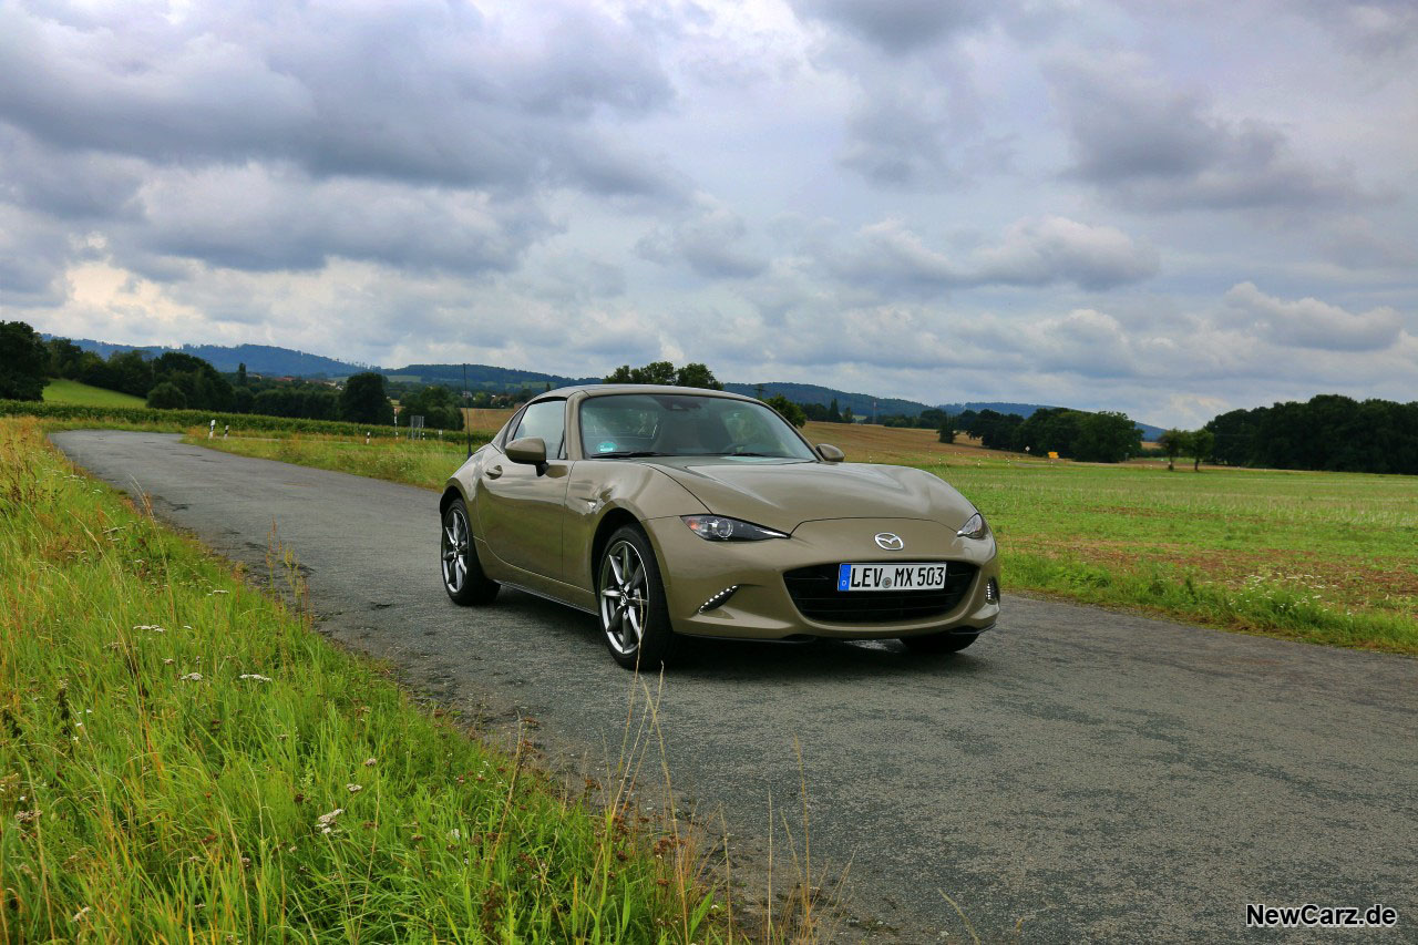
[(1020, 220), (998, 244), (976, 248), (960, 260), (927, 247), (899, 220), (864, 227), (858, 236), (861, 245), (830, 265), (842, 278), (886, 289), (899, 285), (940, 292), (1056, 282), (1106, 289), (1150, 278), (1159, 267), (1157, 251), (1122, 230), (1056, 216)]

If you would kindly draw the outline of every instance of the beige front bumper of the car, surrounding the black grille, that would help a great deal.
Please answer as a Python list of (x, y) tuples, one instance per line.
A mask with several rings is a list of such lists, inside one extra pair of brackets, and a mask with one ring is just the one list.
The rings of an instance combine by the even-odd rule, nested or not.
[[(804, 522), (786, 539), (708, 542), (679, 518), (645, 522), (659, 559), (661, 576), (676, 633), (705, 637), (783, 640), (824, 637), (878, 640), (932, 633), (980, 633), (994, 626), (998, 602), (988, 602), (988, 582), (1000, 579), (993, 539), (957, 538), (940, 522), (902, 518), (838, 518)], [(905, 541), (883, 552), (873, 536), (892, 532)], [(913, 620), (838, 623), (813, 620), (798, 610), (783, 575), (814, 565), (842, 562), (966, 562), (977, 572), (959, 603), (944, 613)], [(700, 607), (737, 586), (722, 604)], [(859, 592), (872, 593), (872, 592)]]

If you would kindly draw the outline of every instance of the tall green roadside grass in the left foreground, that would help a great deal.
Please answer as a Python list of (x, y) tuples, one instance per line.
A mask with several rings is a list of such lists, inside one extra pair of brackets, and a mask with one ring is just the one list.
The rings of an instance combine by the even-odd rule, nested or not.
[(706, 941), (518, 755), (0, 420), (0, 939)]

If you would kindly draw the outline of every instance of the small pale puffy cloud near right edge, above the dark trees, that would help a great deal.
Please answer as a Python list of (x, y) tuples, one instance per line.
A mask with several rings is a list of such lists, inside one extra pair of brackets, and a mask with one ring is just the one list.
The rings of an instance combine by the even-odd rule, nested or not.
[(1288, 302), (1266, 295), (1252, 282), (1234, 285), (1227, 304), (1269, 341), (1289, 348), (1323, 350), (1383, 350), (1398, 342), (1402, 319), (1392, 308), (1354, 314), (1317, 298)]

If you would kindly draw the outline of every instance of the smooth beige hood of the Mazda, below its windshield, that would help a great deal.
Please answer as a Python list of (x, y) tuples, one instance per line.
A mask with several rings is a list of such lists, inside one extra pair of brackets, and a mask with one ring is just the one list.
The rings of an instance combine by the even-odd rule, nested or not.
[(710, 512), (783, 532), (825, 518), (922, 518), (959, 528), (974, 512), (940, 478), (900, 465), (699, 457), (655, 465)]

